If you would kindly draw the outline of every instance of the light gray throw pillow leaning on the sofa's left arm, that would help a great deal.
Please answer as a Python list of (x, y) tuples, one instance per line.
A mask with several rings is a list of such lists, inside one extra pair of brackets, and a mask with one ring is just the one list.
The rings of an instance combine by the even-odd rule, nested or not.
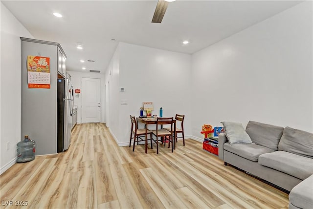
[(226, 137), (230, 145), (234, 143), (252, 144), (252, 140), (241, 123), (231, 121), (223, 121), (221, 123), (224, 125)]

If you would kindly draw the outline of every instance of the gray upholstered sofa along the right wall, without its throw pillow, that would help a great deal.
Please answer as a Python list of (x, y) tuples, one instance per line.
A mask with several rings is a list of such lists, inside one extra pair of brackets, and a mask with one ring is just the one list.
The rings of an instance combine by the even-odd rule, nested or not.
[[(300, 184), (303, 180), (312, 182), (310, 179), (313, 179), (312, 133), (249, 121), (246, 133), (252, 143), (230, 144), (225, 130), (226, 133), (219, 135), (219, 158), (225, 165), (229, 163), (291, 191), (291, 208), (313, 208), (313, 185)], [(299, 186), (301, 192), (293, 193), (291, 189), (295, 186)], [(297, 191), (296, 187), (294, 190)], [(309, 194), (309, 199), (303, 201), (301, 193)], [(298, 205), (300, 202), (302, 205)], [(304, 202), (307, 203), (305, 207)]]

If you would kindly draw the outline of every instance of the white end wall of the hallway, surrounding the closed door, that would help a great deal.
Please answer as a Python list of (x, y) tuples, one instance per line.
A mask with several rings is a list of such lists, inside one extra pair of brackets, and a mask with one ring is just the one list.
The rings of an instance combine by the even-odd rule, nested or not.
[(77, 123), (82, 123), (82, 80), (83, 78), (99, 78), (100, 86), (101, 86), (101, 115), (100, 121), (102, 123), (105, 122), (105, 91), (104, 91), (104, 74), (96, 73), (96, 72), (78, 72), (78, 71), (67, 71), (71, 75), (71, 83), (73, 84), (74, 90), (80, 89), (81, 93), (79, 97), (76, 97), (76, 93), (74, 93), (74, 105), (77, 105)]

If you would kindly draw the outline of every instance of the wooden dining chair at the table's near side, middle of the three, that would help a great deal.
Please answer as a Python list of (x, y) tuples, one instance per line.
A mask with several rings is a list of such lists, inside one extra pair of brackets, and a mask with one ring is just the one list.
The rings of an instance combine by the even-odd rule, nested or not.
[[(158, 129), (159, 125), (170, 125), (169, 130), (166, 129)], [(169, 139), (169, 147), (172, 142), (172, 152), (173, 152), (173, 117), (157, 117), (156, 118), (156, 130), (152, 131), (153, 135), (156, 136), (156, 154), (158, 154), (158, 137), (168, 137)]]

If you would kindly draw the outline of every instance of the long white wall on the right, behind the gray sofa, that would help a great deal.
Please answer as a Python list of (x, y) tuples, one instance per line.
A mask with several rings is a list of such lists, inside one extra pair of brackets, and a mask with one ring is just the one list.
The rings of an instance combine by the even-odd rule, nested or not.
[(312, 1), (192, 56), (192, 135), (249, 120), (313, 132)]

